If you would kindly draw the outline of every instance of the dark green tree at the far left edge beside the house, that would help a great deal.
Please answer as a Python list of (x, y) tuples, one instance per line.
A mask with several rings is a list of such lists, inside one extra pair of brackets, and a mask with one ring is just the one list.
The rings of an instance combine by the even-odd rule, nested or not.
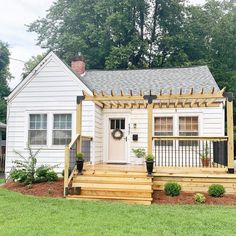
[(0, 41), (0, 122), (6, 122), (6, 101), (9, 95), (8, 80), (11, 78), (9, 72), (9, 50), (8, 45)]

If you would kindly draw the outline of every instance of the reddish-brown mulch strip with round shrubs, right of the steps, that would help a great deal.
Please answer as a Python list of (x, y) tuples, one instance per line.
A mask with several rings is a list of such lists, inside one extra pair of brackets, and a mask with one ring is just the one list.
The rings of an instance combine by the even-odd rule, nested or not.
[[(179, 196), (171, 197), (167, 196), (164, 191), (154, 191), (153, 203), (154, 204), (199, 204), (194, 201), (193, 192), (181, 192)], [(209, 205), (236, 205), (235, 194), (225, 194), (223, 197), (214, 198), (208, 196), (207, 193), (203, 193), (206, 197), (204, 204)]]

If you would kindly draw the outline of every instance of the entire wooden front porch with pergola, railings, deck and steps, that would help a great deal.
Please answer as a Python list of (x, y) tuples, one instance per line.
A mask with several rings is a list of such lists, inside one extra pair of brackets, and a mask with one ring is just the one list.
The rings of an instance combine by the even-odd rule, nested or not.
[[(86, 154), (88, 163), (84, 175), (78, 176), (75, 168), (75, 155), (84, 152), (83, 142), (92, 147), (94, 137), (82, 136), (82, 103), (93, 101), (101, 109), (147, 109), (147, 150), (154, 155), (153, 178), (146, 176), (144, 165), (124, 165), (96, 163), (91, 153)], [(155, 136), (153, 132), (153, 110), (162, 108), (186, 107), (227, 107), (227, 135), (222, 136)], [(133, 203), (150, 204), (153, 190), (161, 190), (165, 182), (177, 181), (184, 191), (207, 191), (212, 183), (222, 183), (228, 193), (235, 193), (236, 176), (233, 156), (233, 113), (232, 96), (224, 90), (188, 94), (120, 95), (84, 93), (77, 98), (77, 136), (65, 149), (65, 195), (70, 198), (121, 200)], [(126, 137), (127, 142), (127, 137)], [(90, 149), (91, 150), (91, 149)], [(203, 161), (205, 160), (205, 162)], [(206, 161), (207, 160), (207, 161)], [(69, 170), (72, 170), (69, 175)], [(227, 185), (227, 186), (226, 186)], [(142, 196), (137, 198), (138, 196)]]

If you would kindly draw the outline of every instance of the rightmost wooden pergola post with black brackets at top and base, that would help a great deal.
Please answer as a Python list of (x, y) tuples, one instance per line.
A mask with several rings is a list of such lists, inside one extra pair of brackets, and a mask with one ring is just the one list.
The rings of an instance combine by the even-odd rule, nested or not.
[(226, 119), (228, 136), (228, 173), (234, 173), (234, 119), (233, 119), (233, 93), (225, 93), (226, 100)]

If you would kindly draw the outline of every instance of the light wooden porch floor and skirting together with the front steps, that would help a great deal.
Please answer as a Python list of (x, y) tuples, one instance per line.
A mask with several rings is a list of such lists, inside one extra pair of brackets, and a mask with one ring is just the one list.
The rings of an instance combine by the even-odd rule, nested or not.
[(226, 193), (236, 194), (236, 174), (225, 168), (156, 167), (150, 178), (145, 165), (86, 164), (83, 175), (73, 176), (71, 187), (79, 192), (67, 197), (149, 205), (153, 190), (163, 190), (169, 181), (188, 192), (207, 192), (211, 184), (222, 184)]

